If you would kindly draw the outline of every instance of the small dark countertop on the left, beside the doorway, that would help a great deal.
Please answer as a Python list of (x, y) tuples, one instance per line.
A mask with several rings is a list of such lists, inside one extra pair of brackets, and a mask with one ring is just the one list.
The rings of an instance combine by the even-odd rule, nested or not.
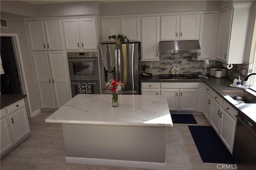
[(1, 109), (23, 98), (26, 98), (26, 96), (27, 96), (26, 94), (1, 94), (1, 98), (0, 98)]

